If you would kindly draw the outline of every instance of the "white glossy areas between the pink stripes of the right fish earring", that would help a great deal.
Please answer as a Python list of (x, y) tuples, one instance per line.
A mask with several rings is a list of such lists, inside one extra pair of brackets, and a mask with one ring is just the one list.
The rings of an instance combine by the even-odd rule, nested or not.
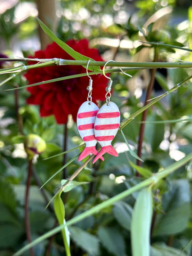
[[(105, 103), (100, 110), (98, 111), (97, 115), (100, 113), (110, 113), (110, 112), (119, 112), (119, 108), (117, 107), (117, 105), (114, 102), (110, 102), (109, 105), (107, 105), (107, 103)], [(102, 125), (102, 124), (120, 124), (120, 116), (118, 117), (112, 117), (112, 118), (97, 118), (95, 119), (95, 125)], [(98, 136), (111, 136), (111, 135), (116, 135), (118, 131), (118, 128), (116, 129), (109, 129), (109, 130), (95, 130), (94, 129), (94, 133), (95, 133), (95, 137)], [(98, 141), (99, 144), (103, 147), (103, 146), (109, 146), (111, 145), (111, 141), (112, 140), (106, 140), (106, 141)]]

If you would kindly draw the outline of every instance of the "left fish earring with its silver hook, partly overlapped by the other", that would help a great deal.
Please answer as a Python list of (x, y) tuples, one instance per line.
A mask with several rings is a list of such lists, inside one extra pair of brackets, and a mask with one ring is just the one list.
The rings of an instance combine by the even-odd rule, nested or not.
[[(94, 122), (95, 117), (99, 108), (95, 103), (92, 102), (92, 78), (88, 74), (88, 66), (89, 62), (87, 63), (87, 76), (90, 78), (89, 86), (87, 86), (88, 96), (87, 101), (85, 101), (79, 108), (77, 112), (77, 129), (79, 132), (80, 137), (85, 142), (85, 148), (82, 151), (81, 155), (78, 158), (78, 161), (83, 160), (89, 154), (98, 155), (98, 151), (96, 150), (95, 146), (97, 144), (97, 140), (95, 139), (94, 135)], [(103, 156), (99, 157), (102, 161), (104, 161)]]

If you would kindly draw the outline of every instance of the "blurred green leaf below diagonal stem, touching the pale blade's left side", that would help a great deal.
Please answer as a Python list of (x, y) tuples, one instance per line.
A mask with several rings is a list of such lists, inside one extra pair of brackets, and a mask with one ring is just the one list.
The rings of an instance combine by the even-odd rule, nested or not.
[(114, 204), (112, 212), (118, 223), (125, 229), (131, 229), (132, 207), (124, 201)]

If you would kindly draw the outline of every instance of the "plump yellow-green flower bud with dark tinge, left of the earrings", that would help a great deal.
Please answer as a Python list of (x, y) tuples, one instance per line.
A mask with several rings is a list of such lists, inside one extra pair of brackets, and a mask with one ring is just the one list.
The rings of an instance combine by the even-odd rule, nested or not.
[(24, 148), (29, 157), (44, 152), (46, 149), (45, 141), (36, 134), (29, 134), (24, 142)]

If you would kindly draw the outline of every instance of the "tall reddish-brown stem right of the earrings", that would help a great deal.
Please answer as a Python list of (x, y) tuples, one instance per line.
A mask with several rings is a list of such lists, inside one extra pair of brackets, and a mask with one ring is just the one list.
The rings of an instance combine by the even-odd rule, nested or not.
[[(157, 51), (158, 51), (158, 49), (155, 47), (155, 49), (154, 49), (154, 62), (156, 62), (157, 59), (158, 59), (158, 52)], [(155, 73), (156, 73), (156, 68), (152, 69), (152, 71), (151, 71), (151, 79), (150, 79), (149, 85), (147, 87), (144, 106), (146, 106), (148, 104), (148, 100), (151, 97), (151, 92), (152, 92), (153, 85), (154, 85), (154, 82), (155, 82)], [(142, 122), (146, 121), (147, 113), (148, 113), (148, 108), (143, 112), (142, 119), (141, 119)], [(137, 155), (140, 158), (141, 158), (141, 150), (142, 150), (142, 144), (143, 144), (144, 130), (145, 130), (145, 123), (141, 123), (140, 132), (139, 132), (139, 139), (138, 139), (139, 146), (138, 146), (138, 150), (137, 150)], [(137, 165), (139, 165), (139, 166), (141, 165), (141, 161), (139, 159), (137, 159)], [(136, 176), (140, 177), (139, 172), (136, 172)]]

